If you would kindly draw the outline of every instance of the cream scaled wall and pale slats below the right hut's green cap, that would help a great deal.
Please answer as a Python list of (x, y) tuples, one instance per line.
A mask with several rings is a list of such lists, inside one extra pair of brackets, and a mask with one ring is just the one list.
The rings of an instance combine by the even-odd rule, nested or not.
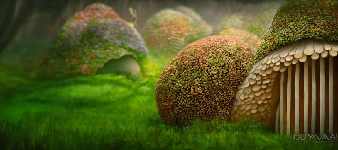
[[(270, 52), (262, 60), (256, 62), (250, 73), (239, 86), (236, 100), (234, 101), (232, 120), (238, 121), (244, 118), (253, 119), (260, 122), (275, 122), (275, 131), (281, 133), (290, 133), (290, 128), (294, 132), (299, 130), (299, 62), (304, 63), (304, 132), (308, 133), (308, 107), (312, 107), (311, 128), (312, 133), (316, 124), (316, 107), (320, 107), (320, 133), (324, 132), (324, 80), (329, 80), (329, 131), (333, 130), (333, 62), (332, 57), (337, 56), (338, 42), (322, 42), (319, 40), (305, 39), (293, 42), (287, 46)], [(329, 79), (324, 79), (324, 58), (328, 57)], [(308, 59), (308, 60), (307, 60)], [(315, 70), (315, 60), (319, 59), (319, 70)], [(308, 63), (311, 61), (310, 63)], [(318, 61), (318, 60), (317, 60)], [(318, 62), (317, 62), (318, 63)], [(293, 65), (291, 65), (293, 64)], [(308, 66), (308, 64), (312, 65)], [(295, 67), (295, 73), (291, 74), (292, 67)], [(308, 71), (311, 69), (311, 72)], [(315, 72), (320, 71), (320, 85), (315, 85)], [(302, 71), (303, 72), (303, 71)], [(309, 106), (308, 75), (312, 74), (311, 94), (316, 94), (316, 88), (320, 88), (320, 106), (316, 106), (316, 96), (312, 96), (312, 105)], [(278, 75), (276, 84), (274, 81)], [(284, 77), (285, 76), (285, 77)], [(287, 76), (287, 77), (286, 77)], [(291, 80), (292, 79), (292, 80)], [(291, 81), (294, 81), (291, 88)], [(310, 80), (311, 81), (311, 80)], [(281, 83), (281, 84), (280, 84)], [(280, 86), (277, 90), (274, 84)], [(287, 86), (286, 91), (284, 86)], [(306, 87), (306, 88), (305, 88)], [(291, 98), (291, 89), (294, 89), (294, 97)], [(286, 93), (286, 94), (284, 94)], [(302, 92), (303, 93), (303, 92)], [(276, 95), (277, 94), (277, 95)], [(311, 97), (311, 96), (310, 96)], [(294, 103), (290, 100), (293, 99)], [(303, 102), (302, 102), (303, 104)], [(294, 107), (294, 114), (291, 114), (290, 108)], [(286, 106), (286, 112), (281, 109)], [(317, 112), (318, 113), (318, 112)], [(290, 125), (290, 116), (294, 118), (294, 126)], [(286, 116), (286, 123), (283, 122), (283, 116)], [(303, 117), (304, 116), (304, 117)], [(275, 119), (272, 121), (271, 119)], [(284, 125), (284, 126), (283, 126)], [(286, 131), (283, 130), (285, 129)]]

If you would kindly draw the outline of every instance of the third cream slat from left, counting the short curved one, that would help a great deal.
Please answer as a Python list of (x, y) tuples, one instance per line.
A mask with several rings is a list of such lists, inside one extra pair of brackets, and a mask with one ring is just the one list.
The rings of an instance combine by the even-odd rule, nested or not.
[(290, 112), (291, 112), (291, 69), (292, 65), (288, 67), (288, 85), (286, 96), (286, 134), (290, 134)]

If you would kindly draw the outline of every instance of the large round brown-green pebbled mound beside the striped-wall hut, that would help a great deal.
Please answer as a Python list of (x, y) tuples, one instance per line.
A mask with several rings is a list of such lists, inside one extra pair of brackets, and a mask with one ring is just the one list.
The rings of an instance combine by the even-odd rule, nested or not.
[(164, 68), (156, 103), (165, 123), (229, 120), (238, 85), (254, 61), (250, 44), (235, 36), (209, 36), (189, 44)]

